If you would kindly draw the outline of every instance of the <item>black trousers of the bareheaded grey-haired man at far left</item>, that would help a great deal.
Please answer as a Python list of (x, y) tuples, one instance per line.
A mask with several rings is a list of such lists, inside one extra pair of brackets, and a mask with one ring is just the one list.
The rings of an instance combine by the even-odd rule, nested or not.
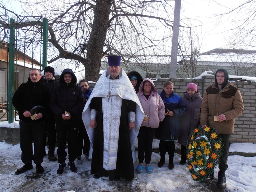
[[(33, 121), (27, 123), (20, 120), (20, 149), (21, 160), (24, 164), (31, 163), (34, 160), (35, 164), (43, 163), (44, 159), (44, 120)], [(32, 142), (34, 141), (34, 154)]]

